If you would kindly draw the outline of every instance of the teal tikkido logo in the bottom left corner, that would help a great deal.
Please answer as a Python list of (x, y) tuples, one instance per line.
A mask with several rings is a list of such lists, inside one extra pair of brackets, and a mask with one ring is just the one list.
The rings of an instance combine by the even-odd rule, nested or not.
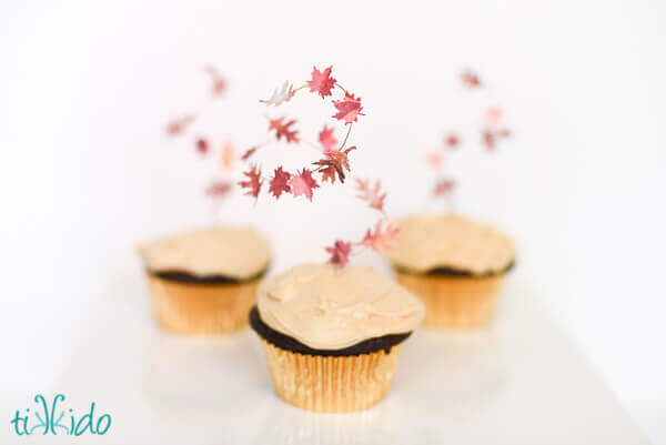
[(33, 434), (46, 436), (70, 435), (80, 436), (84, 433), (104, 435), (111, 427), (111, 414), (102, 414), (95, 418), (94, 402), (90, 409), (77, 419), (77, 413), (72, 408), (63, 406), (64, 395), (58, 394), (51, 404), (47, 403), (43, 395), (34, 396), (37, 408), (26, 408), (22, 413), (17, 409), (14, 417), (10, 421), (13, 431), (19, 436)]

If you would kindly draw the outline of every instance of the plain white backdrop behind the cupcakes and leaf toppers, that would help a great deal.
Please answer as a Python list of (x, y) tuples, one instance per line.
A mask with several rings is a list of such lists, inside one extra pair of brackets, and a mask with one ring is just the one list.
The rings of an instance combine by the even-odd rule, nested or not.
[[(3, 394), (58, 377), (94, 302), (141, 273), (137, 241), (211, 222), (201, 190), (214, 161), (195, 156), (191, 139), (168, 140), (165, 122), (203, 109), (194, 133), (249, 146), (265, 138), (256, 100), (332, 63), (366, 107), (354, 173), (383, 179), (393, 215), (433, 205), (423, 156), (448, 128), (465, 129), (487, 105), (506, 111), (515, 135), (497, 156), (480, 155), (470, 136), (451, 160), (460, 209), (516, 237), (538, 297), (666, 444), (664, 3), (0, 8)], [(230, 81), (220, 101), (208, 98), (205, 63)], [(488, 89), (462, 90), (464, 67)], [(299, 100), (284, 112), (306, 111), (301, 130), (314, 140), (330, 109)], [(321, 245), (373, 222), (352, 190), (326, 189), (312, 205), (236, 198), (220, 220), (254, 221), (280, 264), (321, 260)]]

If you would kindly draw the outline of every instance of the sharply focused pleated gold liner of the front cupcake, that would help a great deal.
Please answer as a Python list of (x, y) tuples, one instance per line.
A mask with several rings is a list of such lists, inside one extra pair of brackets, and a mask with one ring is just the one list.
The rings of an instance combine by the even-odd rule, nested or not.
[(323, 413), (349, 413), (380, 402), (391, 386), (401, 348), (333, 357), (299, 354), (260, 340), (278, 395)]

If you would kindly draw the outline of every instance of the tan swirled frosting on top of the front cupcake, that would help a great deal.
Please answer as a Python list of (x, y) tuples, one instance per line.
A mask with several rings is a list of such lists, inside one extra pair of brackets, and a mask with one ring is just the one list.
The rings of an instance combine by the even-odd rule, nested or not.
[(365, 340), (413, 331), (423, 303), (376, 269), (301, 264), (263, 282), (261, 320), (315, 350), (340, 350)]

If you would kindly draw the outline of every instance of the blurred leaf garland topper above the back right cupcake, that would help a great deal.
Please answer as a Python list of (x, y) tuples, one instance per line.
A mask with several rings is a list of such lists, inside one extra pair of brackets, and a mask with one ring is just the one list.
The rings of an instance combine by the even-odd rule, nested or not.
[[(480, 90), (484, 88), (478, 74), (472, 70), (465, 70), (461, 74), (463, 87), (468, 90)], [(500, 140), (511, 135), (511, 130), (503, 122), (503, 112), (498, 108), (490, 108), (483, 115), (481, 128), (481, 143), (486, 152), (496, 150)], [(433, 188), (435, 198), (446, 199), (451, 208), (454, 206), (453, 194), (457, 183), (445, 172), (445, 153), (457, 150), (462, 145), (462, 136), (455, 132), (448, 132), (443, 138), (441, 148), (428, 152), (425, 156), (426, 163), (435, 171), (436, 179)]]

